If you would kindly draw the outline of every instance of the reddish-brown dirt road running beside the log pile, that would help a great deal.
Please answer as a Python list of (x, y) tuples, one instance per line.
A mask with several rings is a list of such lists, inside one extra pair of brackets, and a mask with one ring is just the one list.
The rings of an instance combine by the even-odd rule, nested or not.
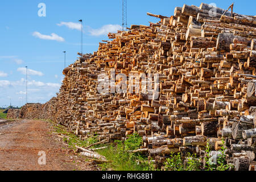
[[(73, 155), (73, 151), (65, 147), (51, 131), (52, 126), (46, 121), (22, 120), (7, 124), (0, 122), (0, 170), (95, 169), (89, 162), (81, 161), (79, 157)], [(44, 152), (46, 165), (44, 165)]]

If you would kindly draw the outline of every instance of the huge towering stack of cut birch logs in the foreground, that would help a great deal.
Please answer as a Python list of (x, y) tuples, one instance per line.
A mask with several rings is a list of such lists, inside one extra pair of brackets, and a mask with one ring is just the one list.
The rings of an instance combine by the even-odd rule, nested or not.
[[(225, 14), (224, 14), (225, 13)], [(171, 17), (154, 15), (157, 23), (132, 25), (109, 33), (97, 52), (80, 55), (63, 74), (57, 97), (44, 117), (60, 122), (80, 139), (143, 138), (141, 151), (155, 163), (172, 152), (201, 156), (207, 141), (214, 154), (225, 139), (227, 162), (236, 170), (253, 170), (256, 141), (256, 17), (205, 3), (176, 7)], [(122, 82), (107, 77), (123, 73), (159, 74), (159, 84), (143, 93), (97, 92)], [(155, 78), (152, 78), (155, 81)], [(151, 100), (159, 88), (159, 97)]]

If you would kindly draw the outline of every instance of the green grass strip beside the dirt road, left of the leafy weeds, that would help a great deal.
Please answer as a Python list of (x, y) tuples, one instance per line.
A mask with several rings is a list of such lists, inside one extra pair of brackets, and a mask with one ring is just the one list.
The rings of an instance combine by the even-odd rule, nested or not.
[[(72, 150), (76, 150), (76, 146), (86, 147), (90, 144), (97, 143), (97, 134), (94, 137), (88, 138), (86, 140), (79, 140), (79, 138), (72, 133), (69, 133), (63, 126), (57, 125), (52, 121), (48, 121), (53, 124), (53, 129), (55, 133), (63, 134), (63, 140), (68, 144), (68, 147)], [(132, 154), (126, 152), (127, 150), (136, 150), (141, 147), (142, 138), (138, 134), (131, 135), (125, 142), (121, 140), (115, 140), (115, 142), (110, 144), (98, 144), (92, 146), (92, 148), (108, 146), (102, 150), (98, 150), (98, 154), (103, 155), (108, 159), (108, 163), (99, 164), (102, 170), (113, 170), (113, 171), (149, 171), (154, 169), (153, 166), (148, 164), (148, 159), (146, 155)], [(89, 160), (85, 158), (85, 160)]]

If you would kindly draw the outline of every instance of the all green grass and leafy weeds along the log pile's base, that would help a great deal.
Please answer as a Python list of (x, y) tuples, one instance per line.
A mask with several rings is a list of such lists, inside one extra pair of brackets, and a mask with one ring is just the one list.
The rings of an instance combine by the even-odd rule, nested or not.
[[(88, 138), (86, 140), (80, 140), (75, 134), (70, 133), (66, 130), (65, 127), (57, 125), (52, 121), (48, 121), (53, 124), (53, 129), (55, 133), (63, 134), (67, 137), (64, 137), (63, 140), (66, 142), (72, 150), (76, 150), (76, 146), (86, 147), (90, 144), (99, 142), (97, 139), (97, 134), (94, 134), (94, 137)], [(106, 157), (108, 162), (99, 164), (102, 170), (112, 170), (112, 171), (151, 171), (151, 170), (160, 170), (155, 168), (154, 164), (148, 162), (147, 155), (140, 153), (131, 153), (127, 152), (129, 150), (137, 150), (142, 145), (142, 137), (137, 133), (128, 136), (125, 141), (115, 140), (109, 144), (98, 144), (92, 146), (92, 148), (108, 146), (101, 150), (97, 150), (98, 154)], [(209, 143), (207, 143), (207, 154), (209, 154)], [(200, 163), (200, 159), (197, 158), (195, 154), (187, 154), (187, 164), (184, 166), (183, 159), (181, 158), (180, 153), (171, 154), (170, 158), (164, 163), (164, 169), (167, 171), (226, 171), (232, 168), (230, 164), (226, 164), (224, 154), (225, 147), (221, 148), (222, 155), (218, 159), (217, 165), (212, 165), (207, 160), (206, 167), (203, 167)], [(85, 160), (91, 160), (84, 157)]]

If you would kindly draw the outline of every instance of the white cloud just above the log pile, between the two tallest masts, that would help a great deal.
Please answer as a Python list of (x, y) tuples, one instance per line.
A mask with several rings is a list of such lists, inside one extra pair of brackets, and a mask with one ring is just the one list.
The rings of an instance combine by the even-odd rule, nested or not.
[(121, 30), (122, 27), (119, 24), (106, 24), (101, 28), (93, 29), (90, 28), (89, 32), (92, 36), (100, 36), (100, 35), (106, 35), (109, 32), (116, 32), (117, 30)]

